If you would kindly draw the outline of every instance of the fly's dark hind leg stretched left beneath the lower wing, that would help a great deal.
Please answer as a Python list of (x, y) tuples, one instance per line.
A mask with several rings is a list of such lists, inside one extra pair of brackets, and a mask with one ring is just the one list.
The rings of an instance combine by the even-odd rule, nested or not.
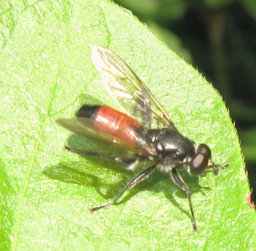
[[(137, 161), (137, 156), (134, 156), (134, 157), (131, 157), (131, 158), (120, 158), (120, 157), (112, 157), (112, 156), (109, 156), (108, 154), (106, 153), (102, 153), (102, 152), (89, 152), (89, 151), (83, 151), (83, 150), (78, 150), (78, 149), (75, 149), (75, 148), (72, 148), (72, 147), (69, 147), (67, 145), (64, 146), (65, 149), (67, 149), (68, 151), (70, 152), (73, 152), (73, 153), (77, 153), (77, 154), (80, 154), (80, 155), (91, 155), (91, 156), (103, 156), (103, 157), (106, 157), (108, 159), (113, 159), (115, 160), (116, 162), (119, 162), (119, 163), (128, 163), (130, 165), (134, 165), (134, 163)], [(129, 165), (129, 166), (130, 166)], [(129, 168), (128, 168), (129, 169)]]

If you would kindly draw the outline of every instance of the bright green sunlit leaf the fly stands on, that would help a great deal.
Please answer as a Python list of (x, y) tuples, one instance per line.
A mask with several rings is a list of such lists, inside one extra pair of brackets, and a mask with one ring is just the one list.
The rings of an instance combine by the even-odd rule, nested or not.
[[(129, 11), (109, 1), (3, 1), (1, 11), (1, 250), (248, 250), (255, 211), (239, 141), (219, 94)], [(83, 103), (113, 105), (91, 62), (91, 46), (123, 58), (165, 107), (176, 127), (230, 162), (218, 177), (184, 179), (186, 194), (157, 172), (118, 205), (135, 174), (101, 158), (63, 150), (102, 146), (55, 123)], [(104, 150), (108, 151), (107, 147)], [(208, 187), (208, 188), (207, 188)]]

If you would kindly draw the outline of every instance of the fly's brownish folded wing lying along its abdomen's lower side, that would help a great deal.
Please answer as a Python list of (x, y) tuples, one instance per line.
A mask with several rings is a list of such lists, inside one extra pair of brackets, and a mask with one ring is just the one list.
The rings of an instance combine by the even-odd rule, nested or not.
[[(113, 137), (110, 134), (106, 134), (104, 132), (100, 132), (97, 129), (94, 129), (92, 119), (88, 118), (74, 118), (74, 119), (57, 119), (56, 122), (65, 127), (66, 129), (70, 130), (71, 132), (77, 133), (81, 136), (86, 138), (94, 139), (99, 142), (105, 143), (106, 145), (115, 146), (117, 148), (131, 151), (134, 153), (139, 153), (142, 155), (156, 155), (156, 151), (148, 145), (148, 143), (134, 135), (133, 140), (138, 143), (137, 146), (131, 146), (127, 143)], [(131, 138), (130, 138), (131, 139)]]

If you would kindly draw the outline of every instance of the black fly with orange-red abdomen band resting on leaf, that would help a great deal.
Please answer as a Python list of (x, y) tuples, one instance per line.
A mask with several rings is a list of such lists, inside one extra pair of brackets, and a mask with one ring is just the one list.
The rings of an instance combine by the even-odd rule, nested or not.
[[(128, 163), (131, 170), (136, 169), (140, 161), (153, 161), (154, 164), (132, 179), (113, 201), (91, 208), (90, 211), (94, 212), (118, 202), (126, 190), (133, 188), (158, 169), (169, 174), (173, 182), (186, 192), (193, 230), (196, 231), (190, 190), (179, 170), (185, 169), (189, 174), (197, 176), (203, 176), (212, 170), (217, 176), (218, 171), (229, 164), (214, 164), (207, 145), (196, 146), (194, 141), (183, 136), (162, 105), (119, 56), (107, 48), (94, 46), (92, 61), (102, 74), (106, 90), (121, 111), (107, 105), (83, 105), (77, 111), (76, 118), (57, 119), (56, 122), (86, 138), (132, 152), (132, 158), (113, 157), (117, 162)], [(105, 155), (68, 146), (66, 149), (83, 155)]]

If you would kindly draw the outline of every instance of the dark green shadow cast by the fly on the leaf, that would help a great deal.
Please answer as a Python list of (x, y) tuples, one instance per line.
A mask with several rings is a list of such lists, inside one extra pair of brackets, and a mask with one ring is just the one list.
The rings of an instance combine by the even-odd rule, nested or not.
[[(51, 179), (59, 180), (65, 183), (77, 184), (79, 186), (92, 187), (94, 188), (100, 196), (106, 200), (113, 199), (130, 180), (132, 180), (137, 174), (139, 174), (143, 169), (147, 168), (152, 164), (142, 163), (141, 167), (138, 167), (135, 171), (127, 169), (126, 163), (116, 163), (111, 158), (107, 156), (119, 157), (119, 154), (124, 154), (118, 152), (115, 148), (111, 146), (106, 146), (97, 141), (91, 139), (85, 139), (77, 134), (71, 134), (67, 140), (68, 146), (76, 148), (83, 151), (103, 151), (106, 153), (104, 156), (91, 156), (91, 155), (80, 155), (83, 159), (86, 159), (87, 163), (83, 164), (82, 161), (72, 161), (72, 162), (60, 162), (55, 166), (50, 166), (44, 169), (43, 174), (48, 176)], [(91, 164), (91, 167), (90, 167)], [(89, 170), (88, 170), (88, 167)], [(104, 171), (101, 172), (100, 168), (104, 168)], [(107, 171), (111, 171), (111, 175), (117, 174), (117, 178), (113, 181), (109, 181), (109, 175)], [(201, 192), (204, 196), (203, 189), (210, 189), (209, 187), (202, 187), (198, 184), (198, 176), (190, 176), (187, 172), (183, 174), (184, 179), (186, 180), (187, 185), (190, 187), (192, 194), (196, 192)], [(203, 188), (203, 189), (202, 189)], [(102, 192), (102, 190), (104, 192)], [(154, 193), (163, 192), (166, 198), (177, 207), (182, 213), (190, 217), (189, 209), (182, 208), (179, 203), (175, 200), (175, 197), (187, 199), (186, 193), (175, 186), (170, 177), (162, 172), (156, 170), (153, 175), (148, 179), (139, 183), (134, 188), (128, 190), (126, 194), (121, 198), (119, 202), (116, 203), (122, 204), (132, 199), (137, 193), (149, 190)], [(84, 193), (86, 196), (86, 193)], [(100, 204), (100, 202), (99, 202)]]

